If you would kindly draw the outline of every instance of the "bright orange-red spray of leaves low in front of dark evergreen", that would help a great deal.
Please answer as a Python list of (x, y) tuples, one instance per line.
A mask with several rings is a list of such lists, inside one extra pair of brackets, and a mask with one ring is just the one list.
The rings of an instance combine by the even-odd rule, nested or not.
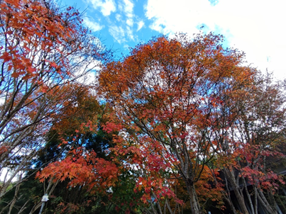
[(70, 150), (67, 157), (61, 161), (53, 162), (38, 171), (36, 178), (41, 182), (45, 179), (53, 181), (69, 180), (69, 186), (84, 185), (97, 190), (106, 190), (114, 186), (117, 181), (118, 168), (116, 164), (97, 157), (93, 151), (84, 150), (83, 147)]

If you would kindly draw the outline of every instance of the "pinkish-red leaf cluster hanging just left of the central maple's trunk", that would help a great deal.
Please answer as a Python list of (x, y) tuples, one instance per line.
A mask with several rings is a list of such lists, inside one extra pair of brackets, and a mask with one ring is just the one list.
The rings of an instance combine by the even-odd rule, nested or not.
[(111, 157), (121, 166), (120, 169), (138, 174), (134, 191), (143, 191), (141, 198), (143, 203), (149, 203), (154, 194), (160, 200), (175, 198), (179, 201), (163, 177), (166, 171), (172, 171), (177, 160), (172, 159), (169, 152), (159, 142), (155, 142), (149, 137), (143, 138), (144, 141), (141, 139), (141, 142), (145, 143), (132, 145), (130, 142), (126, 142), (126, 138), (114, 136), (116, 145), (110, 150)]

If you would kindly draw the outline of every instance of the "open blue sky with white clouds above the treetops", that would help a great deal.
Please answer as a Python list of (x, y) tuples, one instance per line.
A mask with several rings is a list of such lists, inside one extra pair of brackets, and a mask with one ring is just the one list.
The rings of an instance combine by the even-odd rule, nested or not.
[(192, 35), (202, 29), (224, 35), (224, 46), (245, 52), (252, 67), (286, 78), (282, 0), (62, 0), (61, 4), (85, 11), (84, 25), (119, 57), (152, 37)]

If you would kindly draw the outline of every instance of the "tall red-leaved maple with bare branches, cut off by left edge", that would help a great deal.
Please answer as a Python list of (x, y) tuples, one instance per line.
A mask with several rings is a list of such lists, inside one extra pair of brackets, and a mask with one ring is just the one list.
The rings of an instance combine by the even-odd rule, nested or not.
[(94, 69), (101, 46), (72, 7), (32, 0), (1, 0), (0, 7), (1, 198), (44, 145), (55, 116), (74, 103), (80, 87), (67, 85)]

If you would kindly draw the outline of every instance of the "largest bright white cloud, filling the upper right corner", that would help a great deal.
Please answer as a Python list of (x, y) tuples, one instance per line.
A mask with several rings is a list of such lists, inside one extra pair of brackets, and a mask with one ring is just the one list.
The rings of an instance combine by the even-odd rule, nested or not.
[[(283, 1), (148, 0), (145, 16), (150, 28), (160, 33), (185, 32), (192, 35), (204, 24), (207, 30), (223, 33), (231, 47), (246, 52), (246, 60), (265, 71), (286, 77), (283, 59), (286, 40), (282, 33), (286, 20)], [(219, 31), (218, 31), (219, 29)], [(283, 29), (284, 30), (284, 29)], [(268, 59), (268, 60), (267, 60)], [(269, 60), (270, 59), (270, 60)]]

